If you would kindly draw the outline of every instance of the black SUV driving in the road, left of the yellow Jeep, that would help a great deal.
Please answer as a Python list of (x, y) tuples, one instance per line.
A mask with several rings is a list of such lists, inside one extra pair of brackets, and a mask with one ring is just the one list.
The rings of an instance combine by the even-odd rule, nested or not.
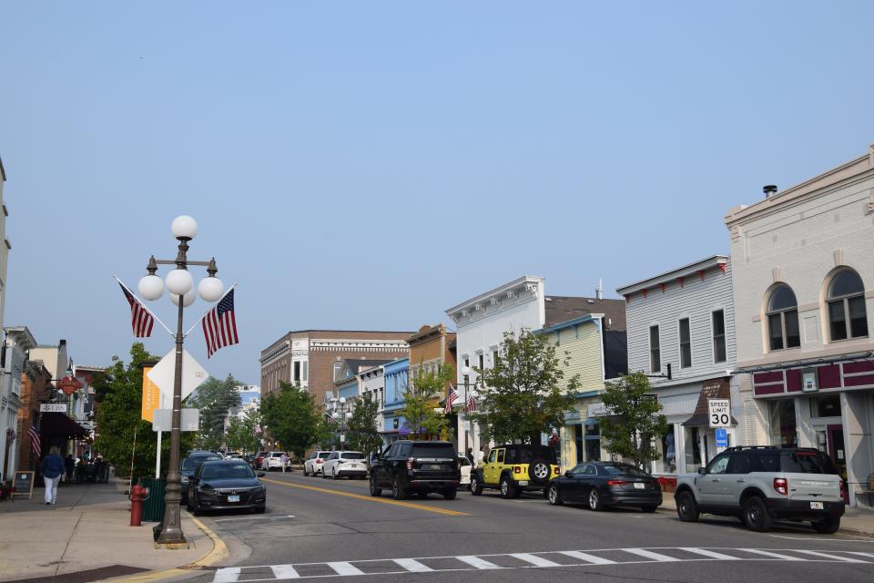
[(461, 481), (458, 452), (446, 441), (396, 441), (371, 465), (371, 496), (391, 488), (395, 500), (411, 492), (439, 492), (452, 500)]

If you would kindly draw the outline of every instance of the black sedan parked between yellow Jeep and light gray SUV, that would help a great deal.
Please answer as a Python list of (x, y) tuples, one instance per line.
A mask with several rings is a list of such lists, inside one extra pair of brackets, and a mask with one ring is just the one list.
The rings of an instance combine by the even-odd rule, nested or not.
[(662, 504), (658, 479), (629, 464), (584, 462), (553, 479), (546, 491), (552, 505), (584, 502), (592, 510), (608, 506), (637, 506), (655, 512)]

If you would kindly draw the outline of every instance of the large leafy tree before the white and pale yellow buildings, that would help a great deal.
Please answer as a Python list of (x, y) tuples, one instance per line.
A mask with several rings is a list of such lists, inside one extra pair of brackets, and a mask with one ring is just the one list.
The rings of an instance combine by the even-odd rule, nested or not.
[(479, 388), (482, 412), (471, 416), (485, 422), (486, 434), (498, 444), (539, 443), (541, 434), (564, 426), (564, 414), (574, 406), (579, 375), (562, 389), (569, 363), (568, 353), (559, 356), (544, 334), (504, 332), (498, 362), (475, 369), (484, 385)]

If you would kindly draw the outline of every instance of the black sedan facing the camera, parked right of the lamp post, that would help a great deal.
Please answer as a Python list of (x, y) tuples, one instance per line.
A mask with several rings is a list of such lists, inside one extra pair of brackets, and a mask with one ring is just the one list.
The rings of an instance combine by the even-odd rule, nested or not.
[(204, 510), (245, 508), (264, 512), (267, 486), (242, 460), (218, 460), (198, 465), (188, 481), (188, 511), (199, 516)]

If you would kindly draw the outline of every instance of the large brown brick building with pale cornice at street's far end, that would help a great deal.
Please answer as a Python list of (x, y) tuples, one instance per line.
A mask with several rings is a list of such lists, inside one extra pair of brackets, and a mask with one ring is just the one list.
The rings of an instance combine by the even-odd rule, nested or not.
[(343, 362), (350, 359), (392, 360), (410, 353), (412, 332), (361, 330), (299, 330), (288, 332), (261, 351), (261, 392), (269, 394), (279, 382), (300, 383), (316, 403), (334, 390)]

